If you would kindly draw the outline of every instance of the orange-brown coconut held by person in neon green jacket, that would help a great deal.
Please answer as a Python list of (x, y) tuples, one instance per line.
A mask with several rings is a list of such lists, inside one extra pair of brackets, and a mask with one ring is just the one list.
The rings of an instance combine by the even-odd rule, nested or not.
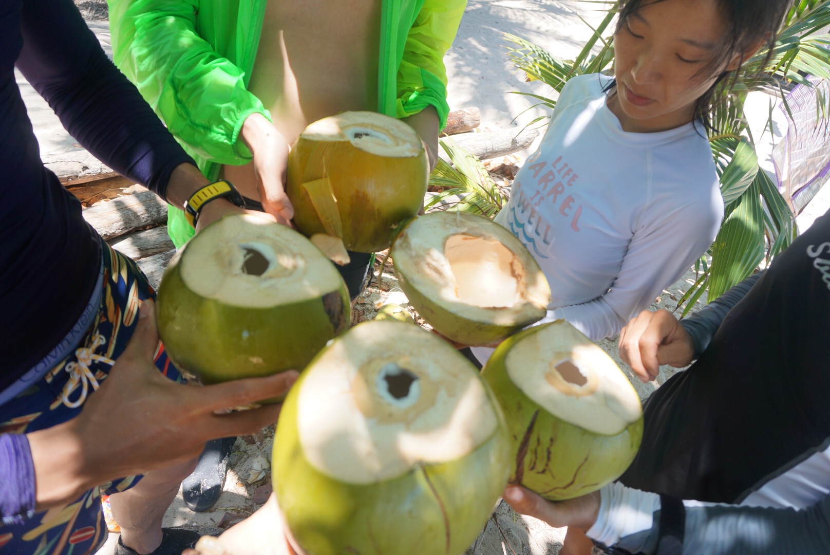
[[(356, 111), (309, 125), (288, 157), (294, 223), (325, 252), (388, 248), (398, 225), (421, 209), (427, 151), (415, 130), (388, 115)], [(342, 258), (342, 254), (339, 254)]]

